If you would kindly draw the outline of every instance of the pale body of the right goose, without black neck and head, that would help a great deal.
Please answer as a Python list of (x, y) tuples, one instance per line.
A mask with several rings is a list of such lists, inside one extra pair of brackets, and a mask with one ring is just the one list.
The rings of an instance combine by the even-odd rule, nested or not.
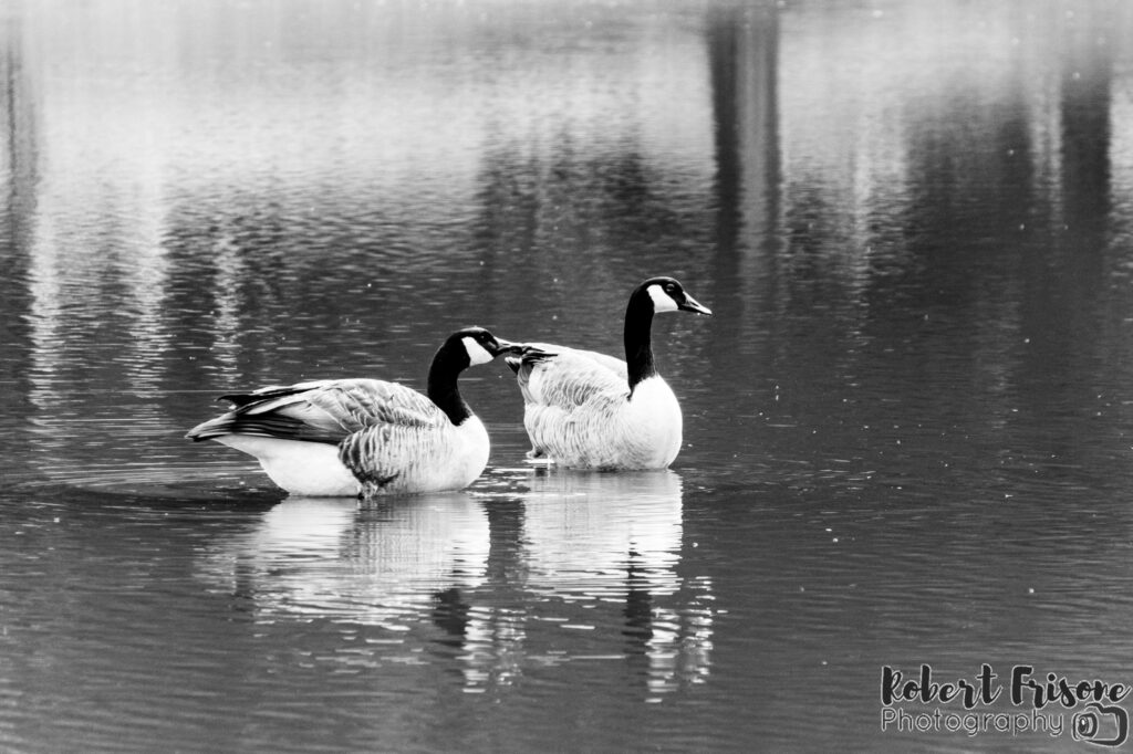
[(533, 454), (581, 469), (664, 469), (681, 449), (681, 406), (655, 375), (630, 397), (627, 365), (597, 353), (537, 344), (556, 355), (520, 374)]

